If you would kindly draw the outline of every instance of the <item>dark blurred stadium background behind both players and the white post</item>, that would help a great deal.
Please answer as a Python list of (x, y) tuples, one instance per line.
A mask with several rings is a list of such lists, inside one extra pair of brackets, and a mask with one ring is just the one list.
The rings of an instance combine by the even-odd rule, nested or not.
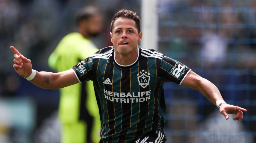
[[(110, 22), (118, 10), (143, 18), (140, 0), (0, 0), (1, 143), (60, 141), (59, 91), (19, 77), (9, 47), (31, 59), (33, 69), (53, 72), (48, 57), (75, 31), (74, 14), (87, 5), (104, 17), (102, 34), (92, 39), (98, 48), (112, 44)], [(248, 109), (240, 122), (232, 115), (225, 120), (199, 92), (164, 83), (168, 142), (256, 142), (256, 1), (159, 0), (157, 14), (158, 51), (214, 83), (228, 104)]]

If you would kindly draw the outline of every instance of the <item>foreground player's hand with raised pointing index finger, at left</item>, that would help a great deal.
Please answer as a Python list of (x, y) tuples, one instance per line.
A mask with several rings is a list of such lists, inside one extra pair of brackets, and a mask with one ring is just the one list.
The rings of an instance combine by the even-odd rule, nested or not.
[(13, 68), (15, 71), (22, 77), (29, 77), (32, 73), (32, 64), (31, 60), (27, 59), (20, 52), (14, 48), (14, 46), (10, 47), (14, 54), (14, 65)]

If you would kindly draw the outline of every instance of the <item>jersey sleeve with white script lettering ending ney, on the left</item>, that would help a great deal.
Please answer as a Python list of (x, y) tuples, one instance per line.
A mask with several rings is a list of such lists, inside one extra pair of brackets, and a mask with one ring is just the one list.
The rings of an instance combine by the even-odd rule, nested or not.
[(92, 57), (87, 57), (85, 60), (73, 66), (71, 70), (76, 74), (76, 78), (80, 83), (84, 81), (92, 80), (92, 77), (93, 77), (92, 65), (93, 65)]

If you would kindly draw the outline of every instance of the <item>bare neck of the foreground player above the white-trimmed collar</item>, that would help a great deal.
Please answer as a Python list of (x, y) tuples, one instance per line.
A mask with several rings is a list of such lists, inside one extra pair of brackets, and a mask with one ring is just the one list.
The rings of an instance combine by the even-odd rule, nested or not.
[(122, 66), (128, 66), (136, 62), (139, 54), (139, 49), (136, 48), (136, 50), (133, 50), (129, 54), (119, 54), (115, 51), (115, 60), (119, 65)]

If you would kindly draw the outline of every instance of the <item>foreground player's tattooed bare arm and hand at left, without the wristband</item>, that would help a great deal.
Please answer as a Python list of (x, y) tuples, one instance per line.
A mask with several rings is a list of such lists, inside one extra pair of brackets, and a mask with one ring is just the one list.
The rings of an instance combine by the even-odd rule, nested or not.
[[(14, 54), (14, 69), (22, 77), (29, 77), (32, 73), (31, 60), (27, 59), (13, 46), (10, 47)], [(45, 89), (58, 89), (78, 83), (75, 74), (71, 70), (59, 73), (37, 72), (36, 76), (30, 80), (36, 86)]]

